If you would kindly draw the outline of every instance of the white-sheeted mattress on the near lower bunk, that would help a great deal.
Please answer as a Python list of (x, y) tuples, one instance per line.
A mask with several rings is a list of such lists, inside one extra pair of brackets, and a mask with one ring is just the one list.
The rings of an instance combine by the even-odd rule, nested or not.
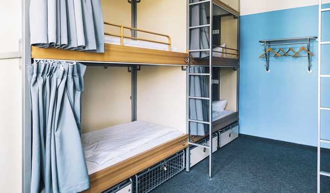
[(176, 129), (134, 121), (82, 134), (88, 174), (183, 135)]

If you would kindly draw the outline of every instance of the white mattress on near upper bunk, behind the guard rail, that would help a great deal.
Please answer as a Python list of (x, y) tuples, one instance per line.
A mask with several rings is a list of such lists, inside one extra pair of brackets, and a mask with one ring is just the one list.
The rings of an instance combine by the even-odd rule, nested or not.
[[(115, 36), (105, 35), (104, 43), (120, 45), (120, 38), (115, 37)], [(131, 40), (131, 39), (124, 38), (123, 44), (126, 46), (132, 46), (132, 47), (141, 47), (141, 48), (169, 51), (169, 46), (166, 44), (162, 44), (162, 43), (153, 43), (153, 42), (147, 42), (147, 41), (142, 41), (142, 40)], [(171, 51), (177, 52), (177, 48), (175, 46), (171, 46)]]

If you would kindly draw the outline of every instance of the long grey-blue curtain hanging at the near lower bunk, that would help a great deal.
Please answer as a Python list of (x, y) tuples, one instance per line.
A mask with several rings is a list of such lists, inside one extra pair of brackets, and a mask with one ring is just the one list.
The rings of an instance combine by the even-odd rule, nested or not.
[(89, 188), (80, 138), (80, 63), (43, 60), (27, 65), (32, 107), (31, 193), (77, 193)]

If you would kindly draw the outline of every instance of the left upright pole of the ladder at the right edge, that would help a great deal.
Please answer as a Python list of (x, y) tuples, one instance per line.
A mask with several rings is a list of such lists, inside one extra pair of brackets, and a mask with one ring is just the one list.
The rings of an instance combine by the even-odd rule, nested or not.
[(318, 78), (317, 78), (317, 193), (320, 193), (320, 171), (321, 171), (321, 8), (322, 0), (319, 0), (319, 34), (318, 34)]

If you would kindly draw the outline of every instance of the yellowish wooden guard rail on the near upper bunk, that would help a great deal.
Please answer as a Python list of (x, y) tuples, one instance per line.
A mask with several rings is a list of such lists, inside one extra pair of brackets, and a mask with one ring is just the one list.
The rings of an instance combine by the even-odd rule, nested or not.
[[(115, 27), (119, 27), (120, 28), (120, 35), (111, 34), (111, 33), (107, 33), (107, 32), (104, 33), (105, 35), (108, 35), (108, 36), (119, 37), (120, 38), (120, 45), (124, 45), (124, 38), (129, 38), (129, 39), (134, 39), (134, 40), (141, 40), (141, 41), (146, 41), (146, 42), (153, 42), (153, 43), (165, 44), (165, 45), (168, 45), (169, 46), (169, 51), (172, 51), (171, 50), (171, 38), (168, 35), (159, 34), (159, 33), (151, 32), (151, 31), (146, 31), (146, 30), (142, 30), (142, 29), (137, 29), (137, 28), (133, 28), (133, 27), (128, 27), (128, 26), (124, 26), (124, 25), (118, 25), (118, 24), (114, 24), (114, 23), (110, 23), (110, 22), (106, 22), (106, 21), (104, 21), (104, 24), (111, 25), (111, 26), (115, 26)], [(158, 42), (158, 41), (154, 41), (154, 40), (147, 40), (147, 39), (143, 39), (143, 38), (135, 38), (135, 37), (131, 37), (131, 36), (124, 36), (124, 29), (131, 29), (131, 30), (136, 30), (136, 31), (148, 33), (148, 34), (154, 34), (154, 35), (157, 35), (157, 36), (164, 36), (164, 37), (166, 37), (168, 39), (168, 43)]]

